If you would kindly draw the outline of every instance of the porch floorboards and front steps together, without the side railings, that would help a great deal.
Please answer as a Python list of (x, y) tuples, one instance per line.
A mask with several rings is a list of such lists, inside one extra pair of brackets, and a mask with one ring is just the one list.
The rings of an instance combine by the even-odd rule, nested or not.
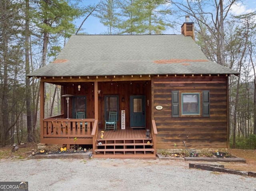
[[(103, 130), (104, 131), (104, 130)], [(156, 159), (152, 138), (146, 138), (146, 129), (118, 129), (98, 132), (95, 158)]]

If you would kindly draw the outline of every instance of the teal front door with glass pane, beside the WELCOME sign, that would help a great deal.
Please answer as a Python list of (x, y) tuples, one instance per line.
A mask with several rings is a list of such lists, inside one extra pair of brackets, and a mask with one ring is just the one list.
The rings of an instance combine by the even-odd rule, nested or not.
[(145, 119), (145, 96), (130, 96), (131, 128), (144, 128)]

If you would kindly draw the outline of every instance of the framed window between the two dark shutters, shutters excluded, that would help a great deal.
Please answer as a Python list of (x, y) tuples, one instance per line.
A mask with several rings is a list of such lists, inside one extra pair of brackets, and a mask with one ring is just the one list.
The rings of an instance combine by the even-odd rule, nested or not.
[(182, 93), (182, 115), (200, 114), (200, 93)]

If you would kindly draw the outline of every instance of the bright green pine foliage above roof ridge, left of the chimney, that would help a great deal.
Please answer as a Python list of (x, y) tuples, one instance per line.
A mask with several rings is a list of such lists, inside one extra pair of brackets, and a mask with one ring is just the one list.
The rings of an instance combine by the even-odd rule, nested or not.
[(117, 0), (116, 28), (120, 34), (161, 34), (172, 27), (164, 0)]

